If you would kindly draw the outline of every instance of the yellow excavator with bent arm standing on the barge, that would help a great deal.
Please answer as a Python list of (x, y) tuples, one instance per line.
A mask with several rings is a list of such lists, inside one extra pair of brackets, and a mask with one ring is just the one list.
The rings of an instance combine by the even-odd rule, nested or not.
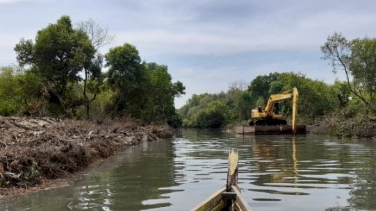
[(255, 108), (251, 111), (250, 126), (279, 126), (286, 125), (287, 121), (283, 119), (281, 114), (281, 105), (279, 101), (284, 99), (293, 99), (293, 119), (291, 121), (292, 130), (295, 134), (296, 131), (296, 118), (297, 118), (297, 98), (299, 93), (297, 88), (282, 92), (281, 94), (272, 94), (269, 97), (268, 103), (265, 108)]

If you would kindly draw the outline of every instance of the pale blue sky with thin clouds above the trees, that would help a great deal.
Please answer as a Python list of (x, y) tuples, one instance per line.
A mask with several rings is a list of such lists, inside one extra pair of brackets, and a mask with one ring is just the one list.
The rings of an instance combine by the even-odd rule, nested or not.
[(69, 15), (74, 24), (94, 19), (130, 43), (142, 60), (167, 65), (192, 96), (226, 92), (231, 83), (293, 71), (334, 83), (341, 72), (322, 60), (320, 46), (334, 32), (348, 40), (375, 37), (376, 1), (349, 0), (0, 0), (0, 66), (17, 64), (13, 48)]

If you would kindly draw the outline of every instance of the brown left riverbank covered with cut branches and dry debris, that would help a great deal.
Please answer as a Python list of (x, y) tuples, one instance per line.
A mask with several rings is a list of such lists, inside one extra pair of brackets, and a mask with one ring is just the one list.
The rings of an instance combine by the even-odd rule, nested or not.
[(117, 151), (173, 135), (168, 126), (140, 126), (129, 119), (0, 117), (0, 195), (54, 186), (56, 179)]

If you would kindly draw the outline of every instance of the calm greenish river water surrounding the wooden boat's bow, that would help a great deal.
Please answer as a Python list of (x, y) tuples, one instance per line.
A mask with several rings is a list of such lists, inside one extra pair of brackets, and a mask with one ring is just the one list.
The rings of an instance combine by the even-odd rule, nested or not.
[(183, 129), (90, 167), (74, 185), (0, 199), (0, 210), (190, 210), (226, 183), (257, 210), (376, 210), (376, 142)]

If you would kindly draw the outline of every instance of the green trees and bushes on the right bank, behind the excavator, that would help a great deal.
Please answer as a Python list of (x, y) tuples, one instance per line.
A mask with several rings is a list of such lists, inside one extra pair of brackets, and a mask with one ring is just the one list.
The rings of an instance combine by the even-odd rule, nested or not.
[[(227, 92), (194, 94), (179, 110), (183, 126), (245, 124), (250, 110), (265, 106), (270, 94), (297, 87), (299, 124), (326, 124), (326, 131), (335, 135), (372, 136), (368, 132), (376, 128), (376, 39), (349, 41), (334, 33), (320, 49), (322, 59), (329, 60), (334, 73), (343, 71), (347, 76), (345, 81), (327, 84), (292, 72), (257, 76), (250, 83), (231, 84)], [(291, 101), (283, 105), (286, 119), (290, 119)]]

